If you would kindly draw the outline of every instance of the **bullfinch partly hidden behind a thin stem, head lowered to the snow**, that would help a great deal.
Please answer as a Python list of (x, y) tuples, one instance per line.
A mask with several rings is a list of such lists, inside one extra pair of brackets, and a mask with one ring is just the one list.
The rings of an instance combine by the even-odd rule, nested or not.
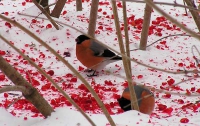
[[(137, 97), (137, 102), (138, 102), (140, 112), (150, 115), (152, 111), (154, 110), (154, 106), (155, 106), (155, 98), (154, 98), (153, 93), (149, 89), (144, 88), (139, 85), (134, 85), (134, 90)], [(145, 97), (145, 96), (149, 96), (149, 97)], [(129, 88), (126, 88), (123, 91), (122, 97), (118, 99), (117, 101), (120, 107), (124, 111), (131, 110)]]

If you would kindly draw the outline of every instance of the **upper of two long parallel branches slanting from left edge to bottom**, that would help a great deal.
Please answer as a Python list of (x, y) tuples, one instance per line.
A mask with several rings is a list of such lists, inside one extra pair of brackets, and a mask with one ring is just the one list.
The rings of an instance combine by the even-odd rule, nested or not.
[(99, 104), (99, 106), (102, 108), (103, 113), (105, 114), (106, 118), (108, 119), (108, 121), (110, 122), (110, 124), (113, 124), (112, 122), (114, 122), (110, 116), (110, 114), (108, 113), (105, 105), (103, 104), (103, 102), (101, 101), (101, 99), (99, 98), (99, 96), (97, 95), (97, 93), (94, 91), (94, 89), (90, 86), (90, 84), (84, 79), (83, 76), (81, 76), (79, 74), (79, 72), (71, 65), (69, 64), (62, 56), (60, 56), (53, 48), (51, 48), (48, 44), (46, 44), (42, 39), (40, 39), (39, 37), (37, 37), (34, 33), (30, 32), (28, 29), (26, 29), (25, 27), (23, 27), (21, 24), (19, 24), (16, 21), (13, 21), (3, 15), (0, 14), (0, 18), (3, 20), (6, 20), (7, 22), (10, 22), (11, 24), (15, 25), (16, 27), (20, 28), (21, 30), (23, 30), (25, 33), (27, 33), (29, 36), (31, 36), (32, 38), (34, 38), (37, 42), (39, 42), (41, 45), (43, 45), (44, 47), (46, 47), (51, 53), (53, 53), (60, 61), (62, 61), (87, 87), (87, 89), (91, 92), (91, 94), (94, 96), (95, 100), (97, 101), (97, 103)]

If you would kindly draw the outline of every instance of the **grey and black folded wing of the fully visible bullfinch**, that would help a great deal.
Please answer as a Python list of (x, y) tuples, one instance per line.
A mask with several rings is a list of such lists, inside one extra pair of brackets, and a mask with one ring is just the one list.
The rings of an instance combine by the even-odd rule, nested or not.
[(102, 46), (101, 44), (92, 41), (90, 49), (94, 52), (95, 56), (101, 56), (101, 57), (113, 57), (115, 56), (115, 53), (110, 51), (108, 48)]

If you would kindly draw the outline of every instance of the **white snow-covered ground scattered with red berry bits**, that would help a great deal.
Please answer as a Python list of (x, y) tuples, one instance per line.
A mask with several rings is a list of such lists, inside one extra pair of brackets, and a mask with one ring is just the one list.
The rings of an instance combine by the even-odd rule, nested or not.
[[(28, 1), (28, 0), (27, 0)], [(55, 2), (54, 0), (50, 0), (51, 3)], [(157, 0), (164, 1), (164, 0)], [(56, 21), (61, 22), (60, 30), (56, 30), (55, 28), (46, 28), (49, 21), (23, 16), (20, 14), (28, 14), (32, 16), (38, 16), (40, 11), (31, 3), (25, 2), (24, 0), (3, 0), (0, 2), (0, 12), (8, 12), (7, 17), (15, 19), (17, 22), (23, 24), (26, 28), (31, 30), (34, 34), (39, 36), (42, 40), (44, 40), (49, 46), (55, 49), (59, 54), (63, 56), (64, 52), (70, 52), (70, 57), (65, 57), (65, 59), (73, 65), (77, 70), (79, 67), (83, 67), (82, 64), (77, 61), (75, 56), (75, 42), (74, 39), (80, 35), (80, 32), (77, 32), (71, 28), (68, 28), (65, 24), (78, 28), (83, 32), (87, 32), (88, 26), (88, 17), (90, 10), (90, 2), (83, 3), (83, 11), (76, 12), (75, 11), (75, 1), (67, 2), (63, 11), (67, 11), (66, 14), (61, 15), (59, 19), (55, 19)], [(101, 1), (105, 2), (105, 1)], [(107, 1), (109, 2), (109, 1)], [(173, 0), (168, 0), (167, 2), (173, 3)], [(177, 1), (182, 4), (182, 1)], [(130, 3), (127, 4), (128, 17), (131, 15), (135, 15), (135, 19), (139, 19), (143, 17), (143, 8), (144, 4), (141, 3)], [(174, 8), (172, 6), (159, 5), (168, 12), (170, 15), (175, 17), (180, 22), (186, 24), (187, 27), (197, 31), (195, 23), (189, 16), (183, 16), (185, 10), (183, 8)], [(110, 10), (111, 5), (105, 4), (100, 5), (102, 11), (98, 13), (98, 21), (97, 21), (97, 29), (99, 30), (99, 34), (96, 34), (98, 40), (101, 40), (108, 46), (113, 49), (119, 51), (118, 43), (115, 40), (115, 25), (114, 21), (111, 18), (106, 18), (106, 16), (112, 15), (112, 11)], [(120, 23), (123, 22), (122, 16), (122, 8), (119, 7), (119, 20)], [(20, 14), (18, 14), (20, 13)], [(157, 12), (152, 13), (152, 21), (155, 21), (157, 17), (161, 15)], [(45, 18), (45, 16), (40, 15), (39, 17)], [(32, 19), (36, 19), (36, 23), (31, 23)], [(167, 25), (172, 26), (172, 23), (166, 21)], [(101, 29), (102, 26), (103, 28)], [(122, 26), (122, 25), (121, 25)], [(110, 28), (112, 30), (110, 30)], [(161, 29), (162, 37), (167, 36), (169, 34), (182, 34), (184, 33), (181, 30), (173, 28), (172, 30), (167, 30), (164, 26), (156, 26), (156, 28)], [(158, 29), (157, 29), (158, 30)], [(156, 31), (154, 31), (156, 32)], [(91, 99), (90, 93), (84, 92), (79, 88), (82, 84), (80, 80), (75, 82), (71, 81), (72, 78), (76, 77), (65, 77), (66, 74), (72, 74), (72, 72), (61, 62), (59, 62), (55, 56), (53, 56), (47, 49), (41, 46), (38, 42), (36, 42), (33, 38), (26, 35), (22, 30), (19, 30), (17, 27), (13, 26), (11, 28), (5, 26), (5, 21), (0, 20), (0, 34), (7, 38), (9, 41), (12, 41), (16, 47), (25, 51), (25, 54), (31, 58), (35, 59), (37, 64), (42, 64), (43, 69), (46, 71), (53, 70), (54, 75), (52, 78), (61, 86), (65, 87), (64, 90), (70, 95), (77, 95), (78, 97), (76, 102), (79, 103), (79, 100)], [(122, 32), (122, 34), (124, 34)], [(136, 32), (136, 28), (130, 26), (130, 48), (136, 49), (139, 46), (140, 33)], [(149, 35), (148, 44), (153, 43), (154, 41), (161, 38), (155, 33)], [(166, 44), (161, 43), (162, 41), (166, 41)], [(132, 51), (131, 57), (137, 59), (138, 61), (148, 64), (150, 66), (161, 68), (169, 71), (176, 70), (194, 70), (197, 67), (193, 66), (195, 60), (193, 59), (193, 55), (191, 53), (191, 47), (195, 45), (197, 48), (200, 47), (199, 41), (188, 36), (177, 36), (170, 37), (167, 39), (163, 39), (155, 43), (153, 46), (147, 48), (147, 51)], [(27, 47), (25, 45), (28, 45)], [(50, 117), (47, 119), (43, 119), (41, 114), (32, 111), (31, 104), (20, 101), (9, 107), (7, 110), (5, 106), (10, 101), (13, 101), (15, 98), (19, 97), (21, 94), (18, 92), (12, 92), (15, 95), (9, 94), (8, 98), (4, 97), (4, 94), (0, 94), (1, 108), (0, 113), (0, 125), (1, 126), (89, 126), (89, 122), (78, 112), (73, 106), (66, 105), (66, 101), (62, 101), (62, 95), (55, 91), (52, 86), (50, 89), (41, 90), (47, 85), (49, 82), (47, 80), (42, 81), (40, 74), (37, 73), (35, 68), (30, 65), (24, 63), (25, 61), (22, 58), (18, 58), (18, 54), (7, 46), (3, 41), (0, 40), (0, 50), (8, 51), (9, 54), (4, 55), (4, 58), (10, 60), (10, 63), (18, 68), (21, 71), (21, 74), (26, 77), (26, 72), (31, 73), (31, 77), (35, 80), (39, 81), (39, 85), (35, 85), (35, 87), (40, 90), (41, 94), (44, 98), (54, 107), (55, 112), (52, 113)], [(44, 58), (41, 56), (45, 55)], [(195, 51), (195, 56), (199, 59), (197, 52)], [(17, 63), (14, 64), (14, 63)], [(183, 68), (184, 67), (184, 68)], [(117, 126), (132, 126), (132, 125), (141, 125), (141, 126), (200, 126), (200, 105), (196, 105), (194, 107), (188, 107), (181, 111), (181, 107), (187, 105), (189, 103), (195, 103), (195, 101), (199, 100), (199, 96), (185, 96), (185, 95), (171, 95), (170, 97), (166, 97), (164, 93), (154, 92), (156, 96), (156, 106), (152, 115), (145, 115), (139, 113), (135, 110), (128, 112), (119, 112), (120, 108), (116, 104), (115, 96), (120, 96), (124, 90), (123, 84), (125, 80), (123, 78), (119, 78), (118, 76), (125, 76), (123, 65), (121, 62), (116, 62), (108, 65), (105, 71), (109, 71), (112, 74), (107, 74), (105, 71), (100, 71), (99, 76), (94, 78), (88, 78), (86, 73), (83, 71), (79, 71), (81, 75), (85, 77), (85, 79), (91, 84), (95, 91), (99, 91), (99, 95), (102, 97), (104, 104), (111, 106), (111, 103), (114, 104), (114, 107), (111, 107), (110, 111), (112, 112), (111, 117), (115, 121)], [(116, 74), (116, 75), (115, 75)], [(161, 72), (158, 70), (148, 69), (146, 67), (140, 66), (136, 63), (132, 62), (132, 74), (133, 80), (145, 84), (147, 86), (153, 86), (154, 88), (160, 89), (160, 86), (168, 87), (168, 82), (175, 81), (178, 83), (182, 80), (191, 79), (194, 77), (193, 74), (188, 74), (189, 76), (185, 76), (183, 74), (169, 74), (165, 72)], [(140, 77), (139, 77), (140, 76)], [(112, 84), (108, 85), (105, 81), (111, 81)], [(166, 84), (165, 84), (166, 83)], [(6, 78), (4, 81), (0, 81), (0, 86), (4, 85), (12, 85), (12, 83)], [(65, 85), (65, 86), (64, 86)], [(70, 87), (71, 86), (71, 87)], [(192, 79), (188, 82), (181, 83), (179, 89), (170, 89), (170, 91), (174, 93), (186, 93), (186, 90), (189, 90), (192, 95), (199, 95), (199, 92), (196, 92), (200, 89), (199, 86), (199, 78)], [(194, 90), (192, 90), (193, 88)], [(116, 90), (116, 91), (115, 91)], [(59, 101), (56, 104), (52, 103), (52, 100)], [(180, 100), (183, 100), (183, 103), (180, 103)], [(23, 104), (21, 104), (23, 102)], [(158, 105), (166, 105), (166, 110), (159, 110)], [(5, 105), (5, 106), (4, 106)], [(22, 105), (22, 108), (20, 108)], [(95, 105), (95, 103), (94, 103)], [(102, 111), (98, 108), (90, 107), (90, 110), (85, 110), (89, 117), (94, 121), (97, 126), (109, 126), (109, 123), (106, 117), (102, 114)], [(12, 114), (11, 114), (12, 113)], [(180, 120), (182, 118), (189, 119), (188, 123), (181, 123)], [(11, 121), (12, 120), (12, 121)]]

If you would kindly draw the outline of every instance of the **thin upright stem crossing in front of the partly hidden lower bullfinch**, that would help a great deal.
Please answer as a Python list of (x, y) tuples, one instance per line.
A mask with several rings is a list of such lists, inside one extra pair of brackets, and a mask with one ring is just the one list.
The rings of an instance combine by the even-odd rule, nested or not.
[(121, 29), (120, 29), (120, 25), (119, 25), (119, 17), (118, 17), (116, 2), (111, 1), (111, 3), (112, 3), (113, 15), (114, 15), (115, 27), (116, 27), (118, 41), (119, 41), (119, 47), (120, 47), (121, 54), (123, 54), (122, 55), (122, 61), (123, 61), (123, 65), (124, 65), (126, 78), (127, 78), (127, 81), (128, 81), (129, 90), (130, 90), (131, 108), (135, 109), (137, 111), (140, 111), (138, 103), (134, 102), (134, 101), (137, 101), (137, 97), (136, 97), (136, 94), (135, 94), (134, 86), (132, 85), (133, 82), (132, 82), (132, 78), (131, 78), (131, 72), (129, 70), (129, 66), (128, 66), (128, 63), (127, 63), (127, 58), (124, 57), (125, 50), (124, 50), (124, 44), (123, 44)]

